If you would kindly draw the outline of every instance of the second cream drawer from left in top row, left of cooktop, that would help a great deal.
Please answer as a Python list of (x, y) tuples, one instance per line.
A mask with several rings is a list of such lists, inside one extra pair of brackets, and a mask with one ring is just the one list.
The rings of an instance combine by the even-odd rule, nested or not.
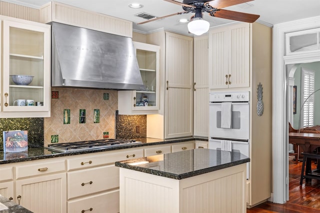
[(60, 161), (51, 161), (38, 164), (24, 164), (17, 166), (16, 168), (16, 180), (24, 177), (50, 174), (55, 172), (64, 172), (65, 163), (64, 160)]

